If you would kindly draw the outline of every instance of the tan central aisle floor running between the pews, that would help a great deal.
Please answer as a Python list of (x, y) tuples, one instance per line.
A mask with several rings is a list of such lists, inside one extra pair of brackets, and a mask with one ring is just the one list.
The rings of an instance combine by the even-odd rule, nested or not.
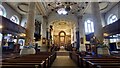
[(77, 65), (70, 59), (69, 52), (66, 51), (64, 48), (60, 48), (57, 51), (57, 57), (53, 62), (51, 68), (78, 68)]

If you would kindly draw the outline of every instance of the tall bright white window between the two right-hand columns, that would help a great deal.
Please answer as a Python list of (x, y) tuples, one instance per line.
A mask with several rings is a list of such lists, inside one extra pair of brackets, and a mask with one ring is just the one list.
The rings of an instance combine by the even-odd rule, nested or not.
[(85, 33), (92, 33), (94, 32), (94, 24), (91, 20), (86, 20), (85, 21)]

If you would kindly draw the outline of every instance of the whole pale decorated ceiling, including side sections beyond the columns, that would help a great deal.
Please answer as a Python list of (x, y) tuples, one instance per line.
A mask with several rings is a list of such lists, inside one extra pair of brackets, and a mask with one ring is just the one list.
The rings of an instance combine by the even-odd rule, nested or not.
[[(28, 11), (29, 3), (27, 2), (7, 2), (13, 9), (19, 12), (21, 15), (25, 15)], [(116, 2), (99, 2), (100, 11), (102, 13), (112, 8)], [(57, 12), (59, 8), (70, 7), (69, 13), (77, 16), (84, 13), (91, 13), (89, 2), (36, 2), (37, 11), (36, 14), (49, 16), (52, 12)], [(69, 10), (69, 8), (68, 8)]]

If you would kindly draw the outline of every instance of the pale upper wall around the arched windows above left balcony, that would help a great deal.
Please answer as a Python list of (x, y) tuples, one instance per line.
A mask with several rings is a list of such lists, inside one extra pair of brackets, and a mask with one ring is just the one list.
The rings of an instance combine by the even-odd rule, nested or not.
[(13, 15), (16, 15), (18, 16), (19, 18), (19, 24), (21, 23), (21, 19), (22, 19), (22, 16), (16, 12), (13, 8), (11, 8), (7, 3), (3, 2), (2, 3), (2, 6), (5, 8), (6, 10), (6, 18), (10, 19)]

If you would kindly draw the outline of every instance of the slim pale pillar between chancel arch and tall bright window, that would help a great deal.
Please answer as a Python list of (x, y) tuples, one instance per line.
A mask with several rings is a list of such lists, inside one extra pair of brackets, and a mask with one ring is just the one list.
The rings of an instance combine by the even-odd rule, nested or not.
[(79, 30), (80, 30), (80, 51), (86, 51), (85, 46), (85, 27), (82, 21), (82, 16), (79, 17)]

